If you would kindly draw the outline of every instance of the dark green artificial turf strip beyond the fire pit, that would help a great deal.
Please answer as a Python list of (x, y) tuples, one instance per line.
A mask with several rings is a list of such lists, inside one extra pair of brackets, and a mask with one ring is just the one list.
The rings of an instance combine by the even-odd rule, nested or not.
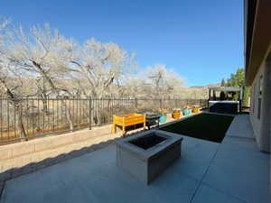
[(230, 115), (200, 114), (164, 126), (160, 130), (221, 143), (233, 118)]

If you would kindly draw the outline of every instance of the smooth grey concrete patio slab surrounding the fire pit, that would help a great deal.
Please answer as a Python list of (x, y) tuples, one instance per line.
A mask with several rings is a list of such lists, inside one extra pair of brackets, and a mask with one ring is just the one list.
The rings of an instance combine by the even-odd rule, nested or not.
[(270, 155), (247, 120), (236, 116), (222, 143), (183, 136), (182, 158), (148, 186), (117, 167), (111, 144), (6, 181), (0, 202), (270, 203)]

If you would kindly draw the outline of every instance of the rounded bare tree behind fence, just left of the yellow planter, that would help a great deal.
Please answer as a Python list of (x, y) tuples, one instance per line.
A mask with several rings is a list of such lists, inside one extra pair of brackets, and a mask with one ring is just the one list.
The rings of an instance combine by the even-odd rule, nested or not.
[[(112, 96), (112, 87), (116, 88), (126, 78), (126, 73), (134, 68), (134, 55), (115, 43), (101, 43), (94, 39), (75, 49), (70, 56), (71, 76), (78, 79), (80, 91), (85, 97)], [(102, 120), (100, 111), (101, 108), (97, 107), (94, 112), (98, 125)]]

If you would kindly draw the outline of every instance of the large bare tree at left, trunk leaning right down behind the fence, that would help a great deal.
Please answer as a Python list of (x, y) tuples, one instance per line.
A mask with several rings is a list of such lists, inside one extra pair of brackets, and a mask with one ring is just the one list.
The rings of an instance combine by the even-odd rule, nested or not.
[[(71, 95), (69, 89), (57, 81), (65, 79), (69, 74), (67, 61), (74, 46), (73, 42), (61, 36), (57, 30), (52, 30), (49, 24), (33, 26), (30, 32), (24, 32), (19, 26), (8, 34), (5, 46), (2, 47), (5, 58), (18, 69), (23, 69), (26, 74), (42, 78), (48, 87), (46, 90), (45, 86), (39, 87), (43, 95), (47, 92), (54, 97)], [(70, 109), (63, 100), (62, 106), (72, 130)]]

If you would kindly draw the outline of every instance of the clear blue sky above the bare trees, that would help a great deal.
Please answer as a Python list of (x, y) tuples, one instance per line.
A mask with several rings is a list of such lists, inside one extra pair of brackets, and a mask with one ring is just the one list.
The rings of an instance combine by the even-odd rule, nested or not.
[(141, 67), (164, 63), (194, 86), (243, 67), (242, 6), (242, 0), (8, 0), (0, 14), (23, 26), (50, 23), (78, 42), (116, 42), (135, 51)]

